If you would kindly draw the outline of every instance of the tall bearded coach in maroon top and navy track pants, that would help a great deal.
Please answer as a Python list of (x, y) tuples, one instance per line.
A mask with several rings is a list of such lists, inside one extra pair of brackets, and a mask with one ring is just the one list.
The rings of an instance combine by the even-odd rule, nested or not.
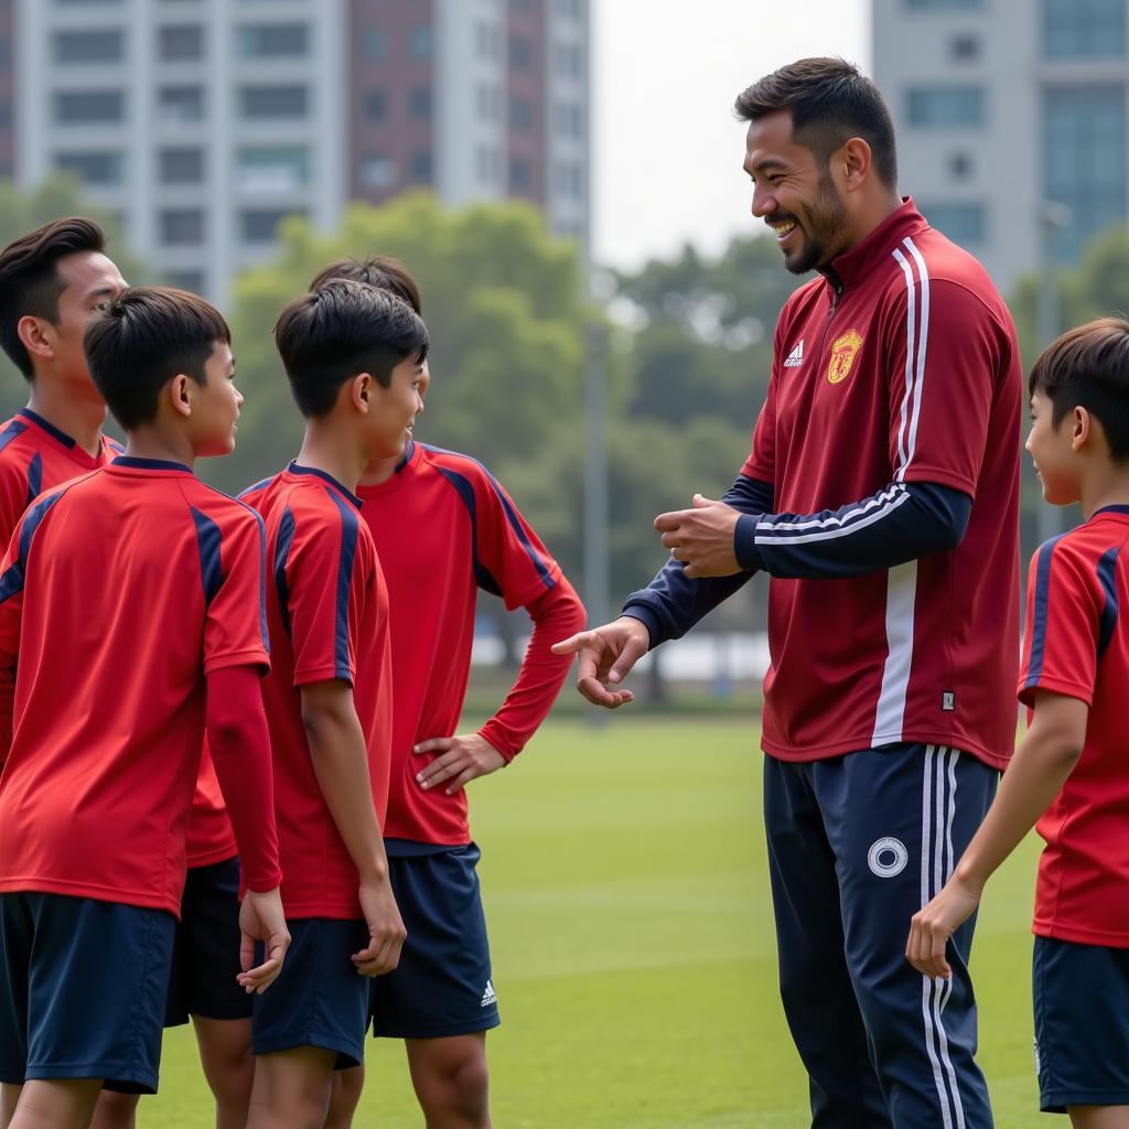
[(726, 499), (660, 515), (672, 561), (562, 650), (618, 707), (648, 647), (771, 574), (764, 821), (813, 1124), (987, 1129), (972, 924), (942, 986), (905, 963), (899, 921), (940, 887), (1014, 745), (1015, 327), (980, 264), (899, 196), (890, 113), (855, 67), (800, 60), (736, 108), (753, 215), (789, 271), (819, 277), (781, 313)]

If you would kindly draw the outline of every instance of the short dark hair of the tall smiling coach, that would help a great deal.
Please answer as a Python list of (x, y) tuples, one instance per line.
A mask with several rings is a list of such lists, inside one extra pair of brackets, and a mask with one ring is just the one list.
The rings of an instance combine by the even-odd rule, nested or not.
[(883, 184), (898, 185), (890, 110), (874, 82), (846, 59), (800, 59), (781, 67), (738, 94), (733, 108), (743, 122), (790, 111), (793, 140), (824, 165), (851, 138), (861, 138)]

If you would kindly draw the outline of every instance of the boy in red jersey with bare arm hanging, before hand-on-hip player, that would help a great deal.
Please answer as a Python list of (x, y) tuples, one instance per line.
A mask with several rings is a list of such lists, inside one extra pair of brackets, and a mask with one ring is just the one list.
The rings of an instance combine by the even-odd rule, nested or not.
[(321, 1124), (333, 1071), (364, 1058), (369, 981), (396, 966), (404, 926), (388, 882), (388, 598), (357, 482), (397, 458), (422, 410), (422, 321), (336, 280), (291, 303), (274, 338), (306, 436), (243, 497), (265, 518), (274, 653), (263, 694), (274, 756), (281, 987), (256, 999), (252, 1129)]

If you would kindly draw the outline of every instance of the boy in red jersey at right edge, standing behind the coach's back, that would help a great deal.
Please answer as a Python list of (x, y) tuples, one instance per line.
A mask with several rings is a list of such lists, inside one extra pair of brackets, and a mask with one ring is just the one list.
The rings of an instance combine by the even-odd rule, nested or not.
[[(1035, 826), (1033, 987), (1040, 1106), (1077, 1129), (1129, 1126), (1129, 322), (1070, 330), (1031, 371), (1026, 448), (1051, 505), (1085, 524), (1031, 561), (1019, 700), (1026, 736), (952, 877), (912, 918), (907, 956), (945, 949)], [(1038, 821), (1038, 822), (1036, 822)]]

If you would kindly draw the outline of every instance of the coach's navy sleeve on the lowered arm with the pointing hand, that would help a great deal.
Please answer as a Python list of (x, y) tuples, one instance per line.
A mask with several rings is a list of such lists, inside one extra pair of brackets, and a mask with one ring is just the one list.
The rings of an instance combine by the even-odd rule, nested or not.
[[(772, 508), (772, 484), (744, 474), (725, 492), (721, 501), (742, 514), (762, 514)], [(650, 646), (680, 639), (699, 620), (728, 599), (753, 575), (754, 569), (734, 576), (695, 580), (671, 558), (646, 588), (632, 592), (623, 614), (641, 620), (650, 633)]]

